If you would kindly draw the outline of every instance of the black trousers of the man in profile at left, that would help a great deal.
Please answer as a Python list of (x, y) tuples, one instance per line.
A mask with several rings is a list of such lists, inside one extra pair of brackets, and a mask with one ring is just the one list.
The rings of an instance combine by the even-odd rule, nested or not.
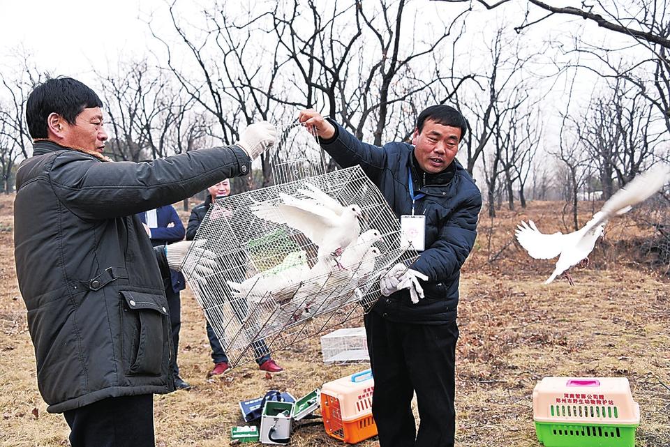
[(72, 447), (154, 447), (154, 395), (108, 397), (63, 416)]

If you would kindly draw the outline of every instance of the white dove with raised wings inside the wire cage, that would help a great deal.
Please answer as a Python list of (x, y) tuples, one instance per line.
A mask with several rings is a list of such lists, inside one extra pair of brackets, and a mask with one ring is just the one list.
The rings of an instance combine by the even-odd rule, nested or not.
[(330, 253), (339, 256), (357, 240), (361, 232), (358, 218), (362, 211), (357, 204), (342, 206), (315, 186), (306, 185), (312, 195), (319, 197), (318, 200), (297, 199), (280, 192), (282, 204), (256, 204), (251, 210), (258, 218), (286, 224), (302, 232), (318, 246), (319, 259), (326, 259)]

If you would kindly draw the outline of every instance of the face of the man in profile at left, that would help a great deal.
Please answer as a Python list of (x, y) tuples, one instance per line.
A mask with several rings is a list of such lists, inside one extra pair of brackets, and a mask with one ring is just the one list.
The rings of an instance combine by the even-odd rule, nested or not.
[(100, 107), (82, 110), (75, 118), (74, 124), (65, 120), (60, 122), (63, 125), (60, 144), (103, 153), (108, 136), (103, 128), (103, 112)]

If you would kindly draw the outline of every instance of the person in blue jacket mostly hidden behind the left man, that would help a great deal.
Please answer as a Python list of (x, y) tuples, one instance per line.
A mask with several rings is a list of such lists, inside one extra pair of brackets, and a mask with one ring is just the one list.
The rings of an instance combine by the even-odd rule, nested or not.
[[(179, 242), (186, 235), (184, 224), (181, 223), (177, 210), (172, 205), (161, 206), (139, 213), (144, 230), (151, 239), (151, 245), (168, 245)], [(170, 270), (170, 281), (165, 285), (165, 298), (168, 298), (168, 310), (170, 311), (170, 329), (172, 331), (172, 346), (174, 347), (174, 362), (172, 363), (172, 375), (174, 377), (174, 388), (188, 390), (191, 388), (184, 379), (179, 376), (179, 330), (181, 329), (181, 295), (180, 291), (186, 287), (184, 275), (181, 272)]]

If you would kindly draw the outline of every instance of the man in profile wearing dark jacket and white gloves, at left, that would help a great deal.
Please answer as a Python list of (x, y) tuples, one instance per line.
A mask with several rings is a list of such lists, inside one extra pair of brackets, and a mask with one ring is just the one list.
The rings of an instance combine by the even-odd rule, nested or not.
[(17, 171), (17, 278), (38, 387), (47, 411), (64, 413), (72, 446), (154, 446), (153, 394), (174, 389), (163, 278), (188, 243), (152, 248), (135, 214), (248, 174), (276, 129), (252, 124), (233, 146), (112, 162), (101, 106), (71, 78), (28, 98), (34, 151)]

